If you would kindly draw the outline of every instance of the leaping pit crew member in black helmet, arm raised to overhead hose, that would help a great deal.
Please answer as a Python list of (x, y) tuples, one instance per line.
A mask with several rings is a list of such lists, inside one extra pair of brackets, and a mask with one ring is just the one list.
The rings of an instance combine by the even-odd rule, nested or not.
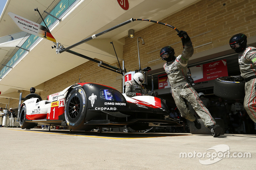
[(166, 61), (164, 70), (172, 88), (172, 97), (182, 117), (194, 122), (195, 127), (201, 129), (201, 124), (198, 122), (197, 117), (189, 111), (186, 105), (185, 100), (187, 100), (192, 105), (197, 115), (203, 120), (204, 125), (212, 132), (213, 137), (218, 137), (220, 136), (222, 128), (220, 125), (216, 125), (212, 115), (203, 105), (203, 102), (190, 85), (188, 79), (188, 59), (194, 53), (192, 42), (187, 32), (180, 31), (178, 35), (184, 42), (184, 49), (181, 55), (178, 57), (174, 56), (174, 49), (171, 46), (165, 46), (160, 50), (160, 57), (162, 60)]

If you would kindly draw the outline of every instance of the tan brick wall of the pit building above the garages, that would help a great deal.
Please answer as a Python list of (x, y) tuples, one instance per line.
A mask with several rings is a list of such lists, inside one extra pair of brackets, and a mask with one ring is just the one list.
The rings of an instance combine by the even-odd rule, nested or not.
[[(227, 46), (225, 47), (227, 51), (225, 55), (234, 53), (229, 48), (228, 41), (236, 33), (245, 33), (248, 38), (256, 36), (255, 9), (255, 0), (202, 0), (159, 21), (188, 32), (194, 45), (194, 55), (189, 62), (191, 64), (210, 59), (207, 55), (196, 58), (197, 54), (207, 50)], [(176, 31), (167, 26), (152, 24), (140, 31), (135, 30), (134, 38), (125, 38), (123, 58), (127, 71), (139, 69), (138, 36), (141, 36), (146, 43), (143, 46), (141, 43), (139, 45), (141, 68), (149, 66), (152, 70), (164, 71), (164, 62), (160, 60), (159, 51), (166, 45), (172, 45), (176, 55), (182, 52), (181, 42), (175, 44), (180, 41)], [(213, 57), (219, 56), (222, 56), (222, 54), (218, 53)], [(115, 65), (117, 63), (109, 64)], [(108, 85), (120, 92), (122, 91), (122, 80), (119, 79), (120, 74), (100, 68), (96, 63), (89, 61), (44, 82), (44, 91), (40, 92), (42, 99), (46, 99), (49, 94), (62, 91), (68, 85), (78, 83), (80, 74), (81, 82)], [(10, 102), (9, 107), (17, 106), (17, 100)]]

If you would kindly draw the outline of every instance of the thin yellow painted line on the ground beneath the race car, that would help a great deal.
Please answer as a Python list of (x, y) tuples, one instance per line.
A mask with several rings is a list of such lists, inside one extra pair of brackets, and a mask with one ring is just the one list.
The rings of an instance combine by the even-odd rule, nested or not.
[[(10, 129), (15, 130), (15, 129)], [(77, 137), (96, 137), (96, 138), (107, 138), (107, 139), (140, 139), (140, 138), (154, 138), (154, 137), (125, 137), (125, 138), (117, 138), (117, 137), (97, 137), (97, 136), (86, 136), (86, 135), (70, 135), (70, 134), (59, 134), (59, 133), (51, 133), (51, 132), (36, 132), (30, 130), (16, 130), (16, 131), (23, 131), (23, 132), (35, 132), (35, 133), (48, 133), (54, 135), (68, 135), (68, 136), (77, 136)], [(189, 135), (173, 135), (173, 136), (189, 136)], [(157, 136), (157, 137), (173, 137), (173, 136)]]

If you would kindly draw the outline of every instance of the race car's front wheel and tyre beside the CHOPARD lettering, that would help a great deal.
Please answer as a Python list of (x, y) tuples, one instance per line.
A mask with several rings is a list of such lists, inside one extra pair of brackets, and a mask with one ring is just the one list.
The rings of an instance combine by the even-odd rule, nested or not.
[(65, 119), (68, 127), (82, 130), (86, 116), (87, 100), (82, 87), (75, 87), (68, 94), (65, 105)]

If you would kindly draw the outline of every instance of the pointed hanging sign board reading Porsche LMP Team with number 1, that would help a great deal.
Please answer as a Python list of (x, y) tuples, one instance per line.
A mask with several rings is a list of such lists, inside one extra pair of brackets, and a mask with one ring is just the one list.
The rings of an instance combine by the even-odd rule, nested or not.
[(56, 42), (55, 38), (45, 26), (37, 24), (36, 22), (30, 21), (12, 12), (8, 12), (8, 15), (22, 31)]

